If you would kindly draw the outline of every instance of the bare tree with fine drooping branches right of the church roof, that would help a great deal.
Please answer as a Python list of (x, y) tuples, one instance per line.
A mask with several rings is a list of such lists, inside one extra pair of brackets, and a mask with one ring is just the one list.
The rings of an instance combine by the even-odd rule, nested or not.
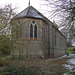
[[(44, 5), (51, 8), (48, 13), (51, 13), (50, 18), (59, 18), (61, 21), (59, 28), (63, 28), (69, 33), (69, 42), (72, 43), (72, 37), (75, 36), (75, 0), (43, 0)], [(68, 34), (67, 33), (67, 34)]]

